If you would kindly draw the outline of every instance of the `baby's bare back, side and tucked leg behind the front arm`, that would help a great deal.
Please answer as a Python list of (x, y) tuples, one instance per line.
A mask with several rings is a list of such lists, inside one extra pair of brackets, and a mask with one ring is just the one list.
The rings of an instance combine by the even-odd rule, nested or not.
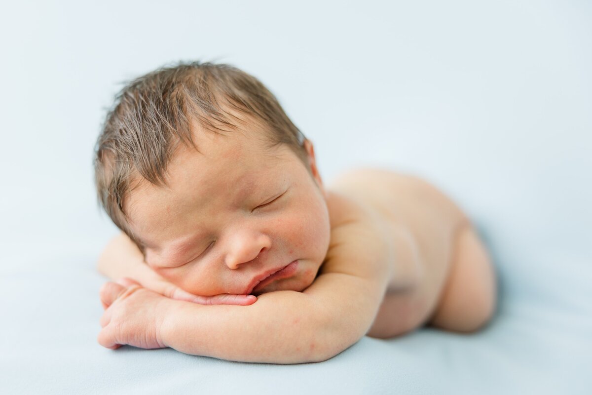
[(348, 172), (330, 189), (368, 207), (398, 251), (369, 336), (390, 338), (426, 323), (472, 332), (488, 322), (496, 306), (491, 260), (448, 197), (420, 178), (377, 169)]

